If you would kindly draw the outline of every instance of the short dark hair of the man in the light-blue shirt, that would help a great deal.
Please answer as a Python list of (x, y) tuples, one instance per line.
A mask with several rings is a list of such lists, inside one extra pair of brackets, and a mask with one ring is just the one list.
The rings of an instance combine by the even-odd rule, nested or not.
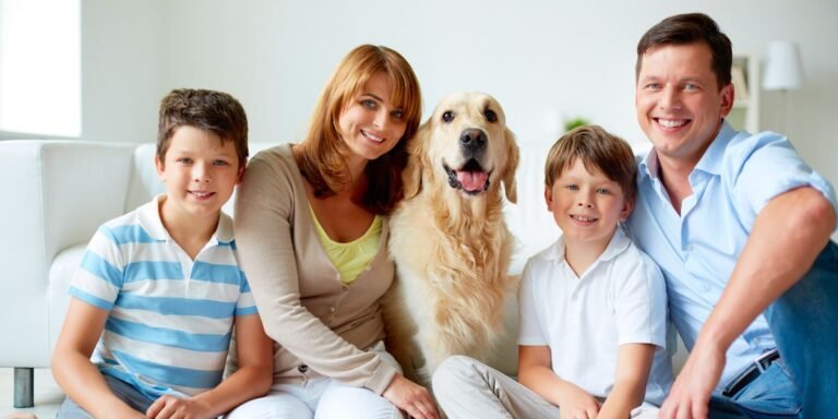
[(669, 16), (649, 28), (637, 43), (637, 63), (635, 79), (641, 75), (643, 55), (651, 48), (661, 45), (687, 45), (704, 43), (710, 48), (713, 61), (710, 68), (716, 74), (716, 81), (721, 87), (730, 84), (730, 68), (733, 63), (733, 52), (730, 38), (719, 31), (710, 16), (704, 13), (686, 13)]

